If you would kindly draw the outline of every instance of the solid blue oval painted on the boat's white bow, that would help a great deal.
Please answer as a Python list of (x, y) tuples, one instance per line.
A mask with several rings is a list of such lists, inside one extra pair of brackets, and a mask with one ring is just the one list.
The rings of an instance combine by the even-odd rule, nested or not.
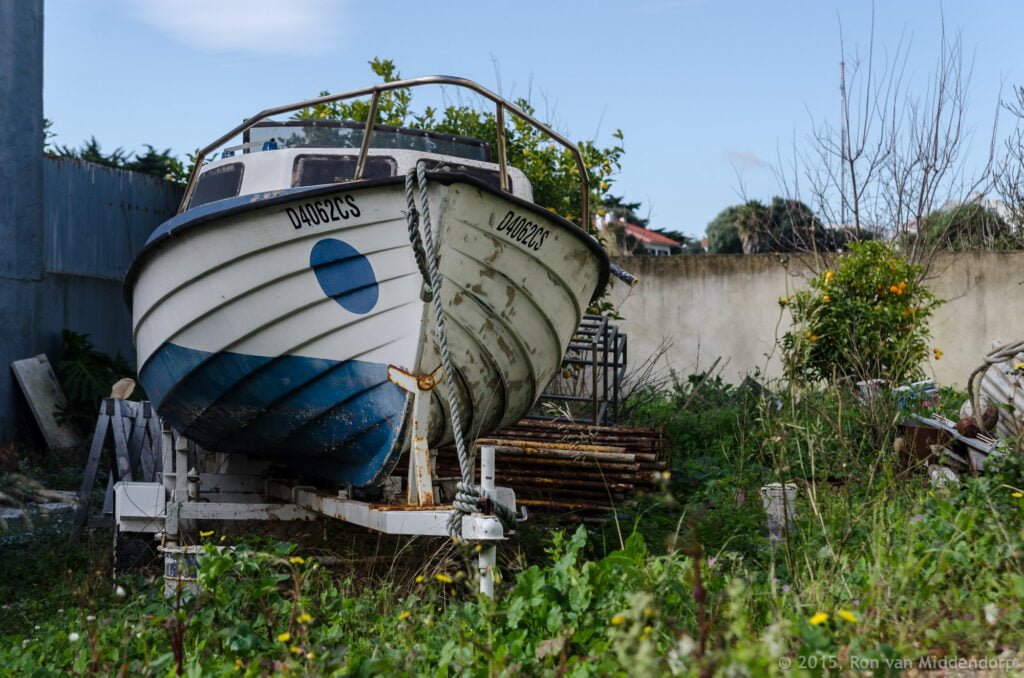
[(369, 313), (380, 294), (370, 260), (342, 240), (326, 238), (313, 245), (309, 265), (324, 294), (345, 310)]

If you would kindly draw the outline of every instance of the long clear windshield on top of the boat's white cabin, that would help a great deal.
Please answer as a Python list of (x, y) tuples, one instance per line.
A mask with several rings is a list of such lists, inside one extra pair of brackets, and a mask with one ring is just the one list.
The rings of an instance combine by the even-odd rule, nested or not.
[[(336, 120), (289, 120), (258, 123), (248, 129), (242, 145), (224, 150), (223, 157), (236, 153), (257, 153), (278, 149), (358, 149), (366, 125)], [(441, 156), (490, 162), (490, 144), (455, 134), (426, 132), (402, 127), (374, 125), (371, 149), (403, 149)]]

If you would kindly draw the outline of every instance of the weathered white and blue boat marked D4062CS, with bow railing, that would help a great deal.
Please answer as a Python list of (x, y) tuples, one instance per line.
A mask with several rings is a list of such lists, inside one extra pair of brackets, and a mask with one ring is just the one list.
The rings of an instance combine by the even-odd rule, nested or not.
[[(409, 449), (413, 377), (440, 364), (433, 304), (407, 224), (406, 174), (426, 164), (440, 301), (464, 433), (521, 418), (559, 369), (609, 264), (575, 224), (535, 205), (526, 177), (464, 137), (274, 115), (423, 84), (468, 87), (579, 151), (513, 104), (446, 77), (264, 111), (201, 152), (179, 214), (129, 270), (139, 380), (158, 412), (218, 452), (372, 485)], [(215, 162), (211, 151), (243, 135)], [(418, 190), (417, 190), (418, 195)], [(421, 208), (422, 209), (422, 208)], [(389, 379), (389, 368), (390, 379)], [(429, 383), (421, 385), (430, 386)], [(441, 382), (429, 443), (454, 437)], [(415, 390), (415, 389), (414, 389)]]

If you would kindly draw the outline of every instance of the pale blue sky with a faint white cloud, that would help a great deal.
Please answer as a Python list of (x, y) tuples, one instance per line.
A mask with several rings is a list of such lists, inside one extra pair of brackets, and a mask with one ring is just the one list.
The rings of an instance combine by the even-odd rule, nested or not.
[(379, 56), (404, 77), (528, 95), (574, 140), (609, 145), (621, 129), (611, 193), (692, 236), (780, 194), (776, 169), (837, 122), (841, 30), (848, 73), (873, 35), (877, 57), (906, 53), (911, 92), (931, 82), (943, 26), (961, 36), (969, 163), (984, 160), (1000, 95), (1024, 84), (1016, 0), (48, 0), (45, 12), (58, 144), (184, 157), (263, 109), (375, 83)]

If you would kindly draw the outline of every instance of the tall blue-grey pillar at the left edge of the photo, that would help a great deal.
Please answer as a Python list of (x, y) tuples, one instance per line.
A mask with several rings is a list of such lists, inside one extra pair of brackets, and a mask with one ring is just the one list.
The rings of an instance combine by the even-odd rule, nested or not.
[[(0, 0), (0, 443), (14, 436), (12, 361), (35, 352), (43, 278), (43, 2)], [(19, 397), (19, 396), (18, 396)]]

